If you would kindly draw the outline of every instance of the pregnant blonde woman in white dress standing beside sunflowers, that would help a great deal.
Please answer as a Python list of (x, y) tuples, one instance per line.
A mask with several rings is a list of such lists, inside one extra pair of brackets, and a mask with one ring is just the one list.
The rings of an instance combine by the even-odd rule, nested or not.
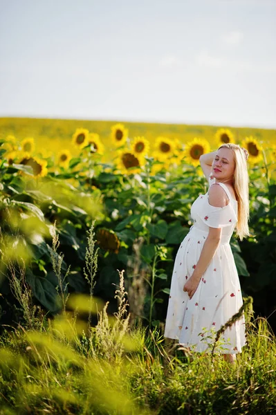
[[(209, 190), (192, 204), (194, 225), (176, 254), (164, 334), (194, 351), (210, 351), (214, 333), (243, 304), (229, 242), (234, 228), (241, 240), (249, 234), (247, 159), (235, 144), (200, 158)], [(246, 344), (244, 323), (242, 315), (221, 335), (229, 362)]]

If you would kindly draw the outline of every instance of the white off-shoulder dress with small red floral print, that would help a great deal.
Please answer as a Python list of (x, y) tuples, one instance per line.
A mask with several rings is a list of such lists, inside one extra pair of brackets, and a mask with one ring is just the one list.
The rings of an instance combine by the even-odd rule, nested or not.
[[(210, 175), (209, 186), (216, 183)], [(200, 194), (191, 207), (194, 225), (183, 239), (174, 262), (165, 337), (194, 351), (210, 352), (215, 333), (243, 304), (241, 286), (230, 238), (237, 223), (237, 201), (228, 187), (219, 183), (229, 198), (228, 205), (210, 205), (208, 192)], [(221, 241), (208, 268), (202, 275), (192, 299), (183, 287), (196, 267), (209, 226), (222, 228)], [(217, 353), (240, 353), (246, 344), (244, 315), (221, 335)]]

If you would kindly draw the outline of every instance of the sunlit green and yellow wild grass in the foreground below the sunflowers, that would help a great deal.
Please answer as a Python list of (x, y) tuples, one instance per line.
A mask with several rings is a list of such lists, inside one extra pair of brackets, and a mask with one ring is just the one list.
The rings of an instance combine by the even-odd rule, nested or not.
[[(234, 365), (220, 353), (183, 353), (161, 329), (129, 323), (119, 274), (113, 315), (108, 303), (99, 309), (94, 297), (71, 295), (71, 310), (39, 329), (4, 331), (1, 415), (276, 412), (276, 341), (267, 320), (246, 313), (247, 344)], [(87, 324), (84, 312), (97, 313), (98, 324)]]

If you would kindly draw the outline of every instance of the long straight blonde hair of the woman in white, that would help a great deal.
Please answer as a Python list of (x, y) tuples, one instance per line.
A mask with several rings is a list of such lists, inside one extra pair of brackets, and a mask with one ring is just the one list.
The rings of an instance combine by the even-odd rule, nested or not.
[(237, 195), (238, 202), (238, 221), (236, 225), (237, 236), (242, 241), (244, 237), (250, 235), (248, 228), (249, 221), (249, 177), (248, 177), (248, 167), (246, 164), (246, 155), (244, 154), (243, 149), (237, 144), (223, 144), (219, 147), (232, 150), (234, 154), (234, 176), (233, 176), (233, 186), (234, 191)]

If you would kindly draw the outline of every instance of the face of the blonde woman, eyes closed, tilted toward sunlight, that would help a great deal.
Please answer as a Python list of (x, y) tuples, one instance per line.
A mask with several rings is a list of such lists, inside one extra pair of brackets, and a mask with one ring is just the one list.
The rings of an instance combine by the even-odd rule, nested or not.
[(223, 147), (217, 151), (212, 163), (212, 176), (218, 181), (228, 181), (234, 176), (234, 154), (232, 150)]

